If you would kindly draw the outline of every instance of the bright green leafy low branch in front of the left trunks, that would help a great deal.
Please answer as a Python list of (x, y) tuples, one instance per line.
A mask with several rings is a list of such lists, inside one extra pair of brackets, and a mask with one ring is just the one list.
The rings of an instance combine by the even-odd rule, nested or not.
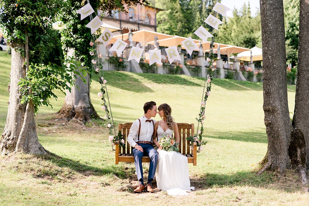
[[(78, 68), (78, 71), (76, 68)], [(21, 103), (26, 103), (32, 99), (35, 105), (35, 114), (42, 104), (52, 107), (49, 98), (57, 99), (54, 90), (59, 89), (63, 93), (66, 89), (71, 91), (71, 86), (74, 86), (74, 80), (77, 76), (86, 82), (81, 74), (86, 76), (85, 67), (82, 67), (81, 63), (75, 61), (73, 57), (64, 60), (62, 66), (52, 63), (29, 65), (26, 77), (20, 79), (18, 83), (21, 87)]]

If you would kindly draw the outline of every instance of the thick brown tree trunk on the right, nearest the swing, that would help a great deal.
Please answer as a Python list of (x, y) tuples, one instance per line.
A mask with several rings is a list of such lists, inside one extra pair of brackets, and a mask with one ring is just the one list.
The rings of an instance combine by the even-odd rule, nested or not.
[(282, 0), (260, 0), (263, 47), (263, 109), (268, 147), (261, 161), (265, 170), (282, 174), (288, 166), (292, 125), (286, 86), (286, 52)]

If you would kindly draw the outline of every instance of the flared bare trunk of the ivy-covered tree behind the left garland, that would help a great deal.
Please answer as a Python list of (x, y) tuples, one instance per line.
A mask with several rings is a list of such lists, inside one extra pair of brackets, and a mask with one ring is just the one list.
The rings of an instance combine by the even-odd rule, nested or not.
[[(74, 49), (69, 49), (68, 56), (74, 56)], [(66, 90), (65, 103), (59, 111), (59, 114), (70, 119), (80, 122), (89, 121), (91, 119), (101, 119), (96, 113), (90, 101), (90, 78), (87, 74), (84, 77), (87, 81), (85, 84), (80, 77), (75, 80), (75, 85), (71, 88), (71, 92)]]

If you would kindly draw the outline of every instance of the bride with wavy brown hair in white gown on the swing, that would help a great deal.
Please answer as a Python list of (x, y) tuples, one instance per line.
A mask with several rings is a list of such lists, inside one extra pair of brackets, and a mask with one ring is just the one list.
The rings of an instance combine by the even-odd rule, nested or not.
[[(161, 104), (158, 107), (159, 115), (162, 120), (155, 123), (153, 143), (159, 147), (158, 166), (157, 166), (157, 187), (159, 190), (167, 191), (168, 195), (188, 195), (194, 190), (190, 187), (188, 158), (179, 152), (167, 152), (160, 149), (160, 138), (165, 135), (172, 135), (175, 131), (174, 139), (180, 142), (177, 123), (171, 117), (171, 107), (168, 104)], [(155, 140), (158, 134), (158, 141)]]

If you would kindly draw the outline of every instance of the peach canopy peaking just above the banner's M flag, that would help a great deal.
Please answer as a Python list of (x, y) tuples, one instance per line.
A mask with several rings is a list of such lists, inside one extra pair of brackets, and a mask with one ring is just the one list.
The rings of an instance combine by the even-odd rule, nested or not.
[[(148, 31), (148, 30), (145, 30), (145, 29), (140, 30), (140, 31), (136, 31), (136, 32), (132, 32), (132, 33), (133, 33), (132, 40), (135, 41), (135, 42), (141, 42), (144, 45), (149, 41), (153, 41), (155, 39), (155, 36), (158, 37), (158, 40), (173, 37), (173, 36), (168, 35), (168, 34), (162, 34), (162, 33), (159, 33), (159, 32), (152, 32), (152, 31)], [(112, 40), (110, 41), (110, 44), (114, 44), (117, 39), (127, 40), (128, 37), (129, 37), (129, 33), (113, 36)]]

